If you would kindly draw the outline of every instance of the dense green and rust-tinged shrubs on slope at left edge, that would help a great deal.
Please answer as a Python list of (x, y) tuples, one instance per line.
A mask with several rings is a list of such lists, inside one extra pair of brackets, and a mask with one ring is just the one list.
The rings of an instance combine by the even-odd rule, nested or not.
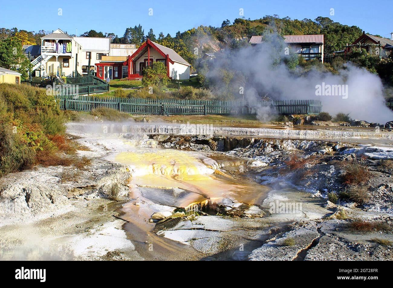
[(0, 84), (0, 176), (33, 166), (37, 153), (55, 151), (50, 138), (64, 131), (63, 113), (45, 89)]

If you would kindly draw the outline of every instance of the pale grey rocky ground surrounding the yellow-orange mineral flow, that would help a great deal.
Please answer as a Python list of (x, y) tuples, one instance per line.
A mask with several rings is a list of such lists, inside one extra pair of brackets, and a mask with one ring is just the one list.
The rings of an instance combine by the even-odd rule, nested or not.
[[(37, 167), (0, 178), (2, 259), (393, 259), (391, 146), (219, 134), (125, 133), (110, 141), (73, 135), (90, 150), (78, 151), (92, 159), (88, 169)], [(125, 141), (228, 157), (217, 173), (251, 178), (270, 191), (254, 205), (222, 199), (209, 207), (213, 213), (156, 204), (126, 186), (126, 166), (103, 160)], [(361, 183), (365, 201), (343, 198), (343, 175), (355, 162), (369, 171)], [(364, 223), (375, 225), (363, 229)]]

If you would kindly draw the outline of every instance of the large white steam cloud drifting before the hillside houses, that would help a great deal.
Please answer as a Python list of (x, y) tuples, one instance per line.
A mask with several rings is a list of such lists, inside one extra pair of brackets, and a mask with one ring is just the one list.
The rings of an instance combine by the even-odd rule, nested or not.
[[(242, 76), (235, 73), (231, 90), (235, 95), (239, 95), (239, 87), (242, 86), (242, 81), (245, 82), (245, 100), (260, 100), (266, 94), (277, 100), (318, 99), (322, 101), (322, 111), (327, 111), (332, 116), (343, 112), (349, 113), (353, 119), (368, 122), (385, 123), (393, 120), (392, 111), (384, 104), (383, 84), (378, 75), (351, 64), (347, 64), (339, 74), (321, 71), (315, 67), (310, 71), (301, 68), (290, 70), (280, 61), (280, 58), (291, 57), (285, 55), (285, 48), (286, 44), (277, 34), (266, 34), (262, 44), (241, 48), (235, 54), (224, 52), (224, 55), (217, 57), (209, 67), (209, 83), (218, 89), (223, 88), (220, 87), (223, 85), (220, 83), (222, 71), (240, 71)], [(239, 80), (240, 78), (243, 80)], [(339, 85), (340, 88), (343, 87), (342, 93), (346, 95), (340, 93), (336, 96), (317, 96), (318, 85)], [(264, 118), (265, 112), (267, 113), (259, 113), (260, 119)]]

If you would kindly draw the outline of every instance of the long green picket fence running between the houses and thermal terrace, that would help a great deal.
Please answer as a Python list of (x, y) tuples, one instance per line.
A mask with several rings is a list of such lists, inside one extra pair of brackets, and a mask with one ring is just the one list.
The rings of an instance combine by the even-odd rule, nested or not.
[(61, 109), (90, 111), (106, 107), (131, 114), (152, 115), (230, 115), (266, 113), (318, 114), (320, 100), (272, 100), (272, 101), (223, 101), (223, 100), (180, 100), (142, 99), (97, 96), (56, 96)]

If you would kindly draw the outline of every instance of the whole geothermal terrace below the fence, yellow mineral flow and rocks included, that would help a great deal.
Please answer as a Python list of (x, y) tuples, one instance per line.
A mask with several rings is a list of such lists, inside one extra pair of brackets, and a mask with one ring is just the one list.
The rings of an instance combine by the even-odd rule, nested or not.
[[(67, 127), (92, 165), (6, 176), (0, 183), (8, 224), (0, 227), (4, 259), (392, 259), (389, 246), (377, 243), (393, 238), (390, 132)], [(362, 184), (367, 201), (329, 201), (354, 160), (370, 173)], [(65, 173), (72, 176), (63, 182)], [(366, 220), (390, 228), (351, 228)]]

